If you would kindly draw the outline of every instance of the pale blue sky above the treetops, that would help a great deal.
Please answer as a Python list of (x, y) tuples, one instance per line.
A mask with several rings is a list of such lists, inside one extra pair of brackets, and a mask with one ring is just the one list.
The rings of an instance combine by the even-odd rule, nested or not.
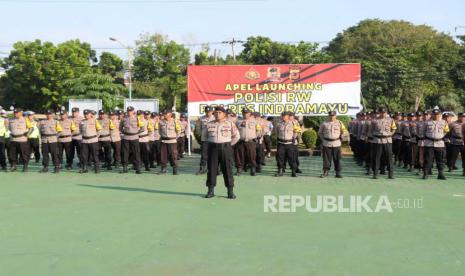
[[(0, 0), (0, 57), (19, 40), (54, 43), (79, 38), (98, 52), (126, 57), (124, 44), (158, 32), (188, 44), (268, 36), (277, 41), (325, 41), (367, 18), (427, 24), (451, 35), (465, 34), (464, 0)], [(454, 30), (459, 28), (457, 32)], [(194, 44), (194, 45), (193, 45)], [(222, 55), (229, 46), (211, 44)], [(239, 50), (239, 48), (238, 48)]]

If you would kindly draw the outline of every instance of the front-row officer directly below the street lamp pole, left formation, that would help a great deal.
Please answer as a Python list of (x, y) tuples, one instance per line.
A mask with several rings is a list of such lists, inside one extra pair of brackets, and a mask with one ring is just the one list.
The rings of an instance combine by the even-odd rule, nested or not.
[(141, 174), (139, 133), (141, 132), (141, 128), (144, 126), (144, 122), (139, 120), (139, 118), (136, 116), (134, 113), (134, 107), (128, 106), (126, 110), (128, 115), (124, 117), (120, 124), (120, 131), (123, 134), (121, 143), (123, 152), (123, 170), (121, 173), (128, 172), (129, 154), (132, 153), (136, 173)]

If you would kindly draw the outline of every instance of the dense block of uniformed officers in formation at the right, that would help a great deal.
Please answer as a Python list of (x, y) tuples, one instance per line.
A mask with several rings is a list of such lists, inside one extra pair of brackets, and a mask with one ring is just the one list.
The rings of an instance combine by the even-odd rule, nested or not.
[(465, 115), (457, 119), (439, 109), (387, 115), (385, 108), (377, 112), (358, 113), (349, 123), (350, 146), (354, 159), (365, 166), (367, 175), (377, 178), (386, 169), (393, 178), (394, 166), (403, 166), (427, 179), (436, 162), (438, 179), (445, 180), (445, 169), (456, 170), (459, 155), (465, 176)]

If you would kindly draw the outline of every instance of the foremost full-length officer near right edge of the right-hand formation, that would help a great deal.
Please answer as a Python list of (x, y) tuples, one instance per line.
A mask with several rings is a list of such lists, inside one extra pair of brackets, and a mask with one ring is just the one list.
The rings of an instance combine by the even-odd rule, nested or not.
[(428, 178), (428, 171), (433, 167), (433, 160), (436, 160), (438, 168), (438, 179), (445, 180), (444, 176), (444, 137), (449, 132), (449, 125), (441, 119), (441, 110), (433, 109), (432, 119), (424, 123), (423, 137), (425, 139), (425, 168), (423, 179)]

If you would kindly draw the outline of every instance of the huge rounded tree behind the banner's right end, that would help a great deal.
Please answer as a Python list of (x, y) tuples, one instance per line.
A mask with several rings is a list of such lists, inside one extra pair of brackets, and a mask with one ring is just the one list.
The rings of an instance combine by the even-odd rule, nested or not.
[(366, 108), (461, 108), (440, 100), (458, 95), (450, 75), (460, 62), (459, 45), (429, 26), (364, 20), (338, 34), (325, 50), (334, 62), (362, 64)]

